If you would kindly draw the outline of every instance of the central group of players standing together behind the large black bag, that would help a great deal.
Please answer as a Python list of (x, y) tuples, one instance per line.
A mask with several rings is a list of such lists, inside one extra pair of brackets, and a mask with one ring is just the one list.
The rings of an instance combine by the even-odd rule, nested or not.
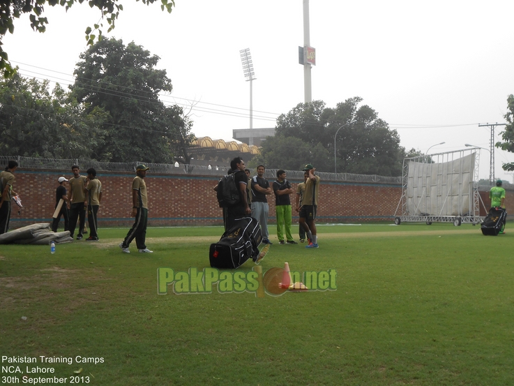
[[(233, 225), (236, 218), (252, 216), (261, 225), (262, 242), (271, 244), (267, 227), (269, 207), (266, 195), (274, 193), (279, 244), (297, 244), (291, 233), (292, 205), (289, 195), (294, 193), (294, 190), (286, 179), (286, 172), (278, 170), (277, 180), (273, 182), (273, 188), (271, 188), (269, 181), (264, 179), (264, 165), (257, 167), (257, 175), (252, 178), (250, 178), (250, 170), (245, 168), (241, 157), (234, 158), (230, 162), (230, 168), (229, 172), (234, 173), (234, 180), (239, 188), (240, 200), (232, 207), (223, 208), (225, 230)], [(296, 189), (296, 211), (300, 217), (300, 242), (305, 241), (306, 235), (308, 245), (305, 248), (318, 248), (315, 220), (320, 179), (311, 164), (305, 165), (303, 172), (304, 181), (298, 184)], [(214, 189), (217, 190), (217, 186)], [(282, 229), (285, 230), (285, 239)]]

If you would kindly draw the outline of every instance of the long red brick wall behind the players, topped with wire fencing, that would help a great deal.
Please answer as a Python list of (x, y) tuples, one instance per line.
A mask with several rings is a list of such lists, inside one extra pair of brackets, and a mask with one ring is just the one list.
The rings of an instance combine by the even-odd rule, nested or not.
[[(23, 208), (13, 206), (10, 228), (29, 223), (50, 222), (54, 213), (55, 191), (61, 176), (70, 172), (17, 170), (14, 190), (20, 194)], [(131, 186), (134, 174), (101, 172), (103, 200), (98, 223), (128, 226), (133, 223)], [(216, 201), (213, 176), (152, 175), (146, 179), (149, 195), (149, 225), (222, 225), (221, 209)], [(296, 185), (301, 181), (292, 180)], [(352, 223), (363, 221), (393, 221), (402, 188), (396, 184), (370, 184), (322, 181), (319, 191), (318, 221), (320, 223)], [(487, 192), (481, 192), (488, 207)], [(295, 195), (291, 195), (294, 204)], [(275, 221), (275, 199), (269, 196), (270, 222)], [(507, 192), (507, 210), (514, 213), (514, 193)], [(513, 209), (510, 210), (509, 207)], [(485, 210), (481, 205), (481, 215)], [(297, 221), (296, 211), (293, 211)], [(296, 220), (295, 220), (296, 218)], [(61, 225), (62, 226), (62, 225)]]

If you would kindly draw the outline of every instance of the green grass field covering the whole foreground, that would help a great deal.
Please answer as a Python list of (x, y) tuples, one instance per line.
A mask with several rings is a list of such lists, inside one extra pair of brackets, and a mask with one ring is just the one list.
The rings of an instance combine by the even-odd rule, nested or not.
[[(121, 253), (125, 228), (100, 230), (98, 243), (58, 245), (54, 255), (47, 246), (2, 245), (0, 376), (11, 378), (0, 384), (54, 369), (29, 377), (83, 385), (513, 385), (509, 225), (498, 237), (464, 224), (319, 226), (320, 247), (310, 250), (272, 235), (264, 272), (284, 262), (296, 272), (337, 272), (336, 290), (278, 297), (216, 286), (175, 295), (172, 285), (158, 295), (158, 268), (209, 267), (221, 228), (150, 228), (152, 254), (135, 245)], [(73, 363), (57, 363), (66, 358)], [(16, 366), (19, 373), (9, 372)]]

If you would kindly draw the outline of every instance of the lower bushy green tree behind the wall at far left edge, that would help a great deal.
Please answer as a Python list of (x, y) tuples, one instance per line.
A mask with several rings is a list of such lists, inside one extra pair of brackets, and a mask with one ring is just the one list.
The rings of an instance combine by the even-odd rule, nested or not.
[(48, 81), (14, 73), (0, 82), (0, 105), (1, 154), (89, 157), (89, 149), (103, 142), (105, 112), (86, 112), (59, 84), (51, 94)]

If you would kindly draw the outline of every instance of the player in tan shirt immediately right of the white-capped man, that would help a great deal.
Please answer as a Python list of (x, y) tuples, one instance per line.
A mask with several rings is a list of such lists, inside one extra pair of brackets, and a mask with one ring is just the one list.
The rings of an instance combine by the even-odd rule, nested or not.
[(70, 237), (73, 239), (75, 234), (75, 227), (77, 226), (77, 220), (79, 221), (79, 232), (77, 240), (82, 239), (82, 231), (84, 230), (84, 224), (86, 223), (86, 176), (80, 175), (80, 169), (77, 165), (71, 167), (73, 177), (70, 178), (68, 184), (70, 191), (68, 191), (68, 202), (70, 202)]

